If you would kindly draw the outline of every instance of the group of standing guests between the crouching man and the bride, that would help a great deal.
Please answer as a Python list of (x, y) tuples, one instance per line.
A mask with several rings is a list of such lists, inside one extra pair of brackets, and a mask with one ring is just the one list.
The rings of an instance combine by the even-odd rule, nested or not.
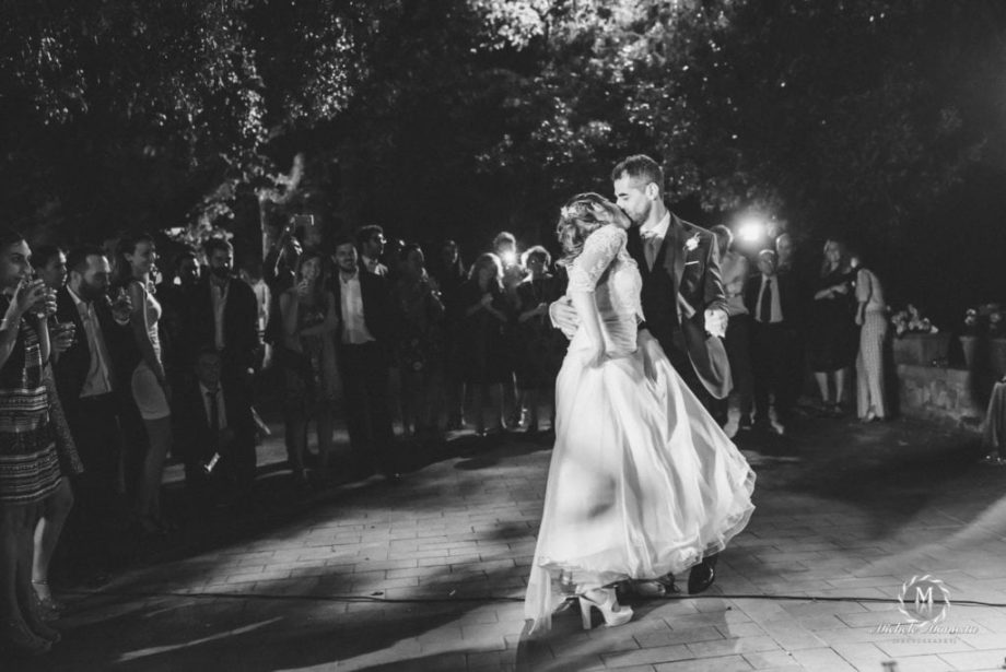
[[(561, 270), (543, 247), (518, 255), (505, 232), (470, 268), (454, 240), (429, 252), (428, 261), (419, 244), (369, 225), (331, 240), (286, 227), (267, 255), (266, 358), (283, 374), (297, 479), (312, 478), (303, 459), (311, 422), (319, 432), (313, 478), (323, 482), (332, 469), (396, 479), (396, 435), (435, 443), (468, 420), (483, 437), (541, 431), (564, 352), (548, 319), (564, 292)], [(334, 416), (350, 434), (349, 465), (328, 455)]]

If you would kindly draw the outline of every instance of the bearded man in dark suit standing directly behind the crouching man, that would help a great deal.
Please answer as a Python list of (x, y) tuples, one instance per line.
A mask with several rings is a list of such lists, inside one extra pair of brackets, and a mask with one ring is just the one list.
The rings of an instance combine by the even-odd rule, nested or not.
[(191, 366), (204, 347), (215, 347), (224, 380), (248, 386), (261, 355), (255, 293), (234, 275), (230, 243), (210, 238), (203, 252), (209, 272), (191, 286), (186, 298), (182, 326), (186, 362)]

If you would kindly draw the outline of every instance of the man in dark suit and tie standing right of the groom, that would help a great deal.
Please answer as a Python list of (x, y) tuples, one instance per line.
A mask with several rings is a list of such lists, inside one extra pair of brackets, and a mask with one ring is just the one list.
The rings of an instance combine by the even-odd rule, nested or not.
[(745, 305), (752, 322), (752, 365), (754, 369), (754, 427), (771, 428), (769, 394), (775, 400), (780, 434), (789, 423), (795, 390), (792, 385), (793, 357), (799, 323), (799, 294), (792, 273), (776, 272), (772, 250), (758, 254), (758, 271), (745, 287)]

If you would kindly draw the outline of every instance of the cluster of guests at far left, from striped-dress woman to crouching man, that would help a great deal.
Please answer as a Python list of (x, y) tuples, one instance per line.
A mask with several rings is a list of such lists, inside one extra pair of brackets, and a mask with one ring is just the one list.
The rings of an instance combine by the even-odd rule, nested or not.
[[(61, 610), (49, 565), (98, 577), (130, 531), (163, 535), (165, 460), (185, 462), (194, 497), (248, 492), (255, 424), (245, 394), (260, 356), (257, 302), (222, 239), (154, 284), (149, 235), (114, 250), (32, 248), (0, 229), (0, 645), (44, 653)], [(177, 440), (176, 440), (177, 439)], [(219, 464), (218, 464), (219, 462)], [(215, 470), (215, 474), (214, 474)], [(215, 480), (211, 482), (211, 474)], [(60, 543), (60, 538), (66, 538)]]

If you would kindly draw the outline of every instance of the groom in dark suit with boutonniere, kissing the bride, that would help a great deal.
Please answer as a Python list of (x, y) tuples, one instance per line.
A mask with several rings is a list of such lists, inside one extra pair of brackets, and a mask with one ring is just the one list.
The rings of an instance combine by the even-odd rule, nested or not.
[[(726, 331), (726, 297), (720, 275), (716, 237), (675, 216), (664, 203), (664, 172), (648, 156), (625, 158), (611, 172), (616, 202), (632, 221), (628, 250), (643, 276), (640, 343), (655, 338), (671, 365), (706, 409), (730, 390), (730, 368), (721, 338)], [(570, 334), (576, 310), (568, 299), (550, 307), (552, 322)], [(692, 567), (688, 592), (699, 593), (715, 579), (716, 556)], [(669, 579), (669, 580), (668, 580)], [(674, 577), (659, 585), (672, 586)], [(660, 591), (654, 582), (642, 592)]]

